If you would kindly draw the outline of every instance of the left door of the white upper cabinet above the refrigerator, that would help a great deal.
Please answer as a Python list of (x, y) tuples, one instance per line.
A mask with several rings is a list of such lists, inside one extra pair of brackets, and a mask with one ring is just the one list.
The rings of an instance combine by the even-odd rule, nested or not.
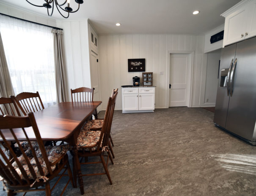
[(225, 19), (223, 46), (243, 40), (245, 37), (249, 5), (242, 6)]

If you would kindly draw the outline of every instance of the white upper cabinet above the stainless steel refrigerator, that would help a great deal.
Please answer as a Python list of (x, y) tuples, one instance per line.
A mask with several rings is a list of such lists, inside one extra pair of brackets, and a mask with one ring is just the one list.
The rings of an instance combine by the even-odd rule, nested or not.
[(223, 47), (256, 36), (256, 0), (242, 0), (225, 17)]

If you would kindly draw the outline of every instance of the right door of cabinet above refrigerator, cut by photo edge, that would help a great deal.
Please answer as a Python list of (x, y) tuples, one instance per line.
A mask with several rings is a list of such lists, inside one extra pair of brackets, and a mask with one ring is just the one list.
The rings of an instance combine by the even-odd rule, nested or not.
[(256, 35), (256, 0), (251, 2), (249, 5), (250, 11), (246, 28), (246, 32), (248, 33), (248, 35), (245, 38), (250, 38)]

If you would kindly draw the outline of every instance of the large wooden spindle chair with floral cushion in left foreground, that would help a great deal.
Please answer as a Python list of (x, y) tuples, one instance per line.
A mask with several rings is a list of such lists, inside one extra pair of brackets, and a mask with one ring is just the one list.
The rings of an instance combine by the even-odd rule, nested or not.
[[(33, 137), (34, 141), (30, 139), (30, 136)], [(8, 189), (8, 196), (30, 191), (45, 191), (46, 196), (50, 196), (52, 189), (63, 176), (69, 176), (67, 184), (71, 181), (74, 187), (68, 155), (66, 154), (69, 146), (44, 147), (32, 112), (24, 117), (0, 115), (0, 140), (7, 146), (13, 157), (9, 160), (5, 151), (2, 150), (3, 148), (0, 148), (0, 176), (3, 177), (3, 183)], [(22, 152), (21, 156), (14, 153), (8, 140), (14, 140), (17, 143)], [(22, 146), (21, 141), (27, 142), (28, 148)], [(49, 181), (59, 176), (58, 174), (63, 169), (64, 172), (51, 189)], [(66, 170), (68, 175), (64, 175)], [(44, 188), (38, 188), (40, 186), (44, 186)]]

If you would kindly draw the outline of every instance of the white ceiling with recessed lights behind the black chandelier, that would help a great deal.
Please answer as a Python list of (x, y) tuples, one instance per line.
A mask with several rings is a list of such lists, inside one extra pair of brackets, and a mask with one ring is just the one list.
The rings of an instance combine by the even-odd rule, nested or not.
[[(58, 0), (60, 3), (63, 0)], [(240, 0), (84, 0), (80, 10), (64, 19), (54, 10), (56, 20), (90, 19), (98, 34), (204, 34), (224, 23), (221, 13)], [(25, 0), (0, 0), (22, 10), (47, 16), (46, 8)], [(43, 3), (44, 0), (30, 0)], [(76, 9), (77, 3), (70, 0)], [(192, 12), (199, 10), (198, 15)], [(120, 27), (115, 24), (121, 23)]]

